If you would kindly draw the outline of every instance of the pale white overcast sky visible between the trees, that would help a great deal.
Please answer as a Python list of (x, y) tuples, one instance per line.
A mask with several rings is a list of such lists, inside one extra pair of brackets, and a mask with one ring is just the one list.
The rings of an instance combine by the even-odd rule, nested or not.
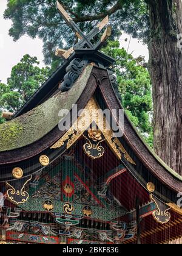
[[(12, 21), (4, 20), (3, 13), (6, 8), (7, 0), (0, 0), (0, 80), (6, 83), (7, 78), (10, 76), (11, 69), (24, 54), (29, 54), (32, 57), (38, 57), (40, 66), (44, 66), (42, 55), (42, 41), (36, 38), (32, 40), (30, 37), (21, 37), (18, 41), (13, 41), (12, 37), (8, 35), (8, 30), (11, 27)], [(125, 38), (128, 41), (124, 41)], [(128, 48), (130, 37), (122, 35), (121, 47)], [(138, 43), (138, 40), (132, 39), (129, 46), (129, 53), (133, 52), (134, 57), (143, 55), (148, 60), (147, 46)]]

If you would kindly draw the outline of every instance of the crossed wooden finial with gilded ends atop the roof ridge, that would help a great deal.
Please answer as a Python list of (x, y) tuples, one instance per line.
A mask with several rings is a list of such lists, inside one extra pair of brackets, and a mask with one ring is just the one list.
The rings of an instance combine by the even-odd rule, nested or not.
[(75, 32), (76, 37), (78, 37), (79, 39), (78, 43), (76, 43), (72, 48), (70, 48), (67, 51), (64, 49), (56, 49), (56, 52), (55, 52), (56, 56), (62, 57), (62, 59), (68, 59), (76, 49), (87, 48), (87, 49), (92, 49), (94, 51), (98, 51), (101, 48), (101, 46), (103, 46), (104, 41), (106, 41), (107, 38), (109, 38), (111, 35), (112, 27), (108, 25), (101, 39), (98, 41), (98, 43), (93, 45), (91, 40), (109, 23), (109, 16), (106, 16), (106, 18), (104, 18), (104, 20), (101, 21), (101, 23), (99, 23), (97, 26), (95, 26), (92, 29), (92, 31), (89, 32), (89, 34), (85, 35), (81, 31), (81, 29), (79, 29), (79, 27), (76, 25), (73, 19), (69, 16), (66, 10), (64, 10), (64, 8), (62, 7), (62, 5), (59, 3), (58, 0), (56, 1), (56, 9), (59, 11), (62, 18), (70, 26), (73, 32)]

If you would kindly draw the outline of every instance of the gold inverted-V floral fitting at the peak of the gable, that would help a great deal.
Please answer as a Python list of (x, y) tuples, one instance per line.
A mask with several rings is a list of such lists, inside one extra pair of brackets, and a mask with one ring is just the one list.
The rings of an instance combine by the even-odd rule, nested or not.
[(116, 156), (121, 160), (121, 153), (123, 153), (126, 160), (135, 165), (135, 162), (127, 153), (126, 149), (124, 149), (118, 138), (113, 137), (113, 131), (110, 129), (106, 118), (103, 116), (103, 113), (101, 113), (98, 104), (93, 98), (90, 99), (85, 110), (81, 113), (73, 126), (52, 146), (51, 149), (60, 148), (67, 140), (67, 149), (69, 149), (93, 122), (98, 126), (101, 133), (103, 133), (110, 149), (112, 149)]

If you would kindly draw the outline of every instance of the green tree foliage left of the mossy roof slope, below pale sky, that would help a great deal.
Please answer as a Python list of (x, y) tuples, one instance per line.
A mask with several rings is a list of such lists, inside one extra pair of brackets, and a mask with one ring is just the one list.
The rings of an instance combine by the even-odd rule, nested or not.
[[(24, 55), (21, 61), (13, 66), (7, 85), (0, 84), (0, 112), (16, 112), (41, 84), (49, 77), (50, 68), (39, 68), (36, 57)], [(0, 118), (0, 123), (4, 121)]]

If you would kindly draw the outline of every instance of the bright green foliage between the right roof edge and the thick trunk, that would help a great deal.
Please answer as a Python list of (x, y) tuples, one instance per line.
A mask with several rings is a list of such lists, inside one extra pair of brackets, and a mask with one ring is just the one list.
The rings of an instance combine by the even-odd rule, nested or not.
[(152, 146), (152, 85), (149, 72), (143, 67), (143, 57), (133, 59), (124, 48), (120, 48), (119, 41), (109, 41), (103, 51), (116, 60), (113, 70), (127, 116)]

